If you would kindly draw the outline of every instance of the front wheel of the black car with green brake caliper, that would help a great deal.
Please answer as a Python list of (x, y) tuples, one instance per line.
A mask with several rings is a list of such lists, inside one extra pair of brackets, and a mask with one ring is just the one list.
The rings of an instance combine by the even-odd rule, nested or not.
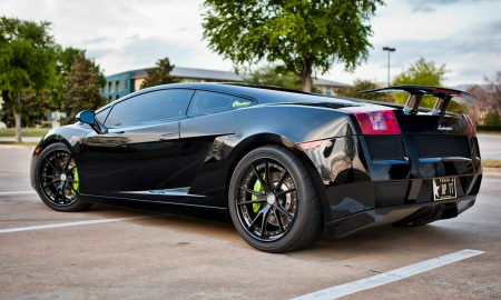
[(43, 203), (56, 211), (81, 211), (92, 206), (80, 200), (78, 169), (63, 143), (52, 143), (40, 153), (35, 183)]

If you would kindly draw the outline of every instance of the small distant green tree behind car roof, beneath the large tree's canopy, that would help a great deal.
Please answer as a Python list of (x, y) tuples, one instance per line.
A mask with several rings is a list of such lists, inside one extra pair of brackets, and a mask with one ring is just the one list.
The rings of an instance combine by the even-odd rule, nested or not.
[[(301, 79), (297, 76), (292, 72), (279, 73), (275, 66), (266, 66), (256, 69), (244, 79), (244, 82), (261, 86), (281, 87), (298, 91), (301, 91), (303, 88)], [(312, 84), (312, 91), (317, 91), (315, 84)]]

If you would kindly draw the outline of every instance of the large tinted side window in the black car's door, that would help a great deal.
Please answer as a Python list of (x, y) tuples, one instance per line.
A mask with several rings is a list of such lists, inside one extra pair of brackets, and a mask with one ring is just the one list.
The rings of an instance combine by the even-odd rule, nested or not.
[(186, 116), (193, 90), (159, 90), (136, 96), (115, 104), (106, 126), (125, 126)]

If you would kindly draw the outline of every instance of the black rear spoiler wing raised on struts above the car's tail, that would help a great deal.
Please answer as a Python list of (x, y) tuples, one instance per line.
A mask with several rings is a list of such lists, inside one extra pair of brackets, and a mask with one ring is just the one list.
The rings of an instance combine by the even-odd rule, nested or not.
[(362, 91), (361, 93), (371, 92), (407, 92), (409, 98), (403, 108), (406, 114), (418, 113), (421, 100), (425, 94), (436, 97), (436, 102), (431, 111), (432, 114), (444, 114), (451, 100), (454, 100), (459, 104), (471, 104), (479, 101), (477, 96), (470, 92), (426, 86), (395, 86)]

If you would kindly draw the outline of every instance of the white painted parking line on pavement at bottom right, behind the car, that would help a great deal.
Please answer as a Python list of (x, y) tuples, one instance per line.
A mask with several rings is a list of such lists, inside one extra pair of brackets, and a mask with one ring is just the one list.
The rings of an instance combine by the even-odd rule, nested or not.
[(415, 276), (425, 271), (433, 270), (435, 268), (460, 261), (463, 259), (468, 259), (471, 257), (475, 257), (482, 254), (483, 251), (478, 250), (462, 250), (455, 253), (446, 254), (443, 257), (438, 257), (434, 259), (430, 259), (423, 262), (418, 262), (407, 267), (403, 267), (400, 269), (395, 269), (389, 272), (384, 272), (381, 274), (376, 274), (370, 278), (361, 279), (357, 281), (352, 281), (345, 284), (341, 284), (337, 287), (328, 288), (325, 290), (321, 290), (317, 292), (312, 292), (308, 294), (304, 294), (292, 300), (330, 300), (337, 299), (347, 294), (352, 294), (358, 291), (369, 290), (372, 288), (376, 288), (390, 282), (394, 282), (411, 276)]

